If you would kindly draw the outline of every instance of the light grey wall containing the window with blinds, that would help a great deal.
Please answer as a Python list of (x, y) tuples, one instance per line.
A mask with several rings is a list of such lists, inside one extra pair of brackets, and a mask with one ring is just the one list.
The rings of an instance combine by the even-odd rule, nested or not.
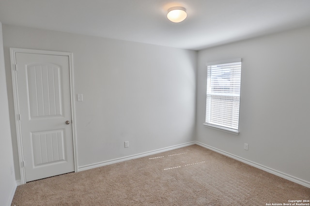
[[(243, 59), (239, 135), (202, 125), (205, 64), (234, 58)], [(197, 141), (310, 185), (309, 77), (310, 27), (199, 51)]]

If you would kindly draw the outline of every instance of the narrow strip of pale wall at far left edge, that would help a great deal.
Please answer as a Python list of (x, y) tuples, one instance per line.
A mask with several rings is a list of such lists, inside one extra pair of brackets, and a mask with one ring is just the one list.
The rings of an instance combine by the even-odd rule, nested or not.
[(9, 105), (5, 80), (2, 24), (0, 23), (0, 205), (11, 205), (16, 190), (12, 140), (10, 131)]

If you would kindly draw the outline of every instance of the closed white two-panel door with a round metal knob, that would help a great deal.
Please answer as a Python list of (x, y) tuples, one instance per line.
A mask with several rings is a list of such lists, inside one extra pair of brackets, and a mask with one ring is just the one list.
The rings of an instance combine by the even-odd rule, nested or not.
[(74, 171), (69, 57), (16, 52), (26, 182)]

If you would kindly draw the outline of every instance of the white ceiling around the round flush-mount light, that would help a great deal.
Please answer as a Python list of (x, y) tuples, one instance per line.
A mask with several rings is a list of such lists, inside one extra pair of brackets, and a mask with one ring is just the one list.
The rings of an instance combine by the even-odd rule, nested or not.
[(310, 0), (0, 0), (0, 22), (200, 50), (308, 26)]

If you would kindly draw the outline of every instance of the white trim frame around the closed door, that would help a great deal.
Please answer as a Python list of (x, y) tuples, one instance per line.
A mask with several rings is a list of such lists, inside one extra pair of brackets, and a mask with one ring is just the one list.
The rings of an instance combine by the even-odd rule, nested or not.
[(78, 172), (78, 152), (77, 152), (77, 136), (76, 136), (76, 115), (75, 115), (75, 98), (74, 98), (74, 78), (73, 78), (73, 53), (60, 51), (47, 51), (24, 48), (10, 48), (11, 69), (12, 69), (12, 84), (13, 84), (13, 98), (14, 98), (14, 117), (16, 124), (16, 137), (18, 148), (18, 160), (20, 168), (20, 184), (26, 184), (26, 173), (24, 165), (24, 151), (22, 144), (21, 125), (19, 116), (19, 102), (17, 89), (17, 71), (16, 71), (16, 53), (30, 53), (30, 54), (45, 54), (66, 56), (69, 58), (69, 81), (70, 81), (70, 101), (71, 101), (71, 118), (72, 118), (72, 140), (73, 140), (73, 159), (74, 171)]

